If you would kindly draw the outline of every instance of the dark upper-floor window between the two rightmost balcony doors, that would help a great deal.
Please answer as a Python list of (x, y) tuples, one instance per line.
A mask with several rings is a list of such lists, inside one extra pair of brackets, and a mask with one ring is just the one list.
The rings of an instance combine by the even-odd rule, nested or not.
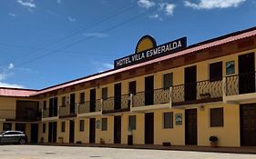
[(210, 81), (222, 80), (222, 62), (210, 64)]

